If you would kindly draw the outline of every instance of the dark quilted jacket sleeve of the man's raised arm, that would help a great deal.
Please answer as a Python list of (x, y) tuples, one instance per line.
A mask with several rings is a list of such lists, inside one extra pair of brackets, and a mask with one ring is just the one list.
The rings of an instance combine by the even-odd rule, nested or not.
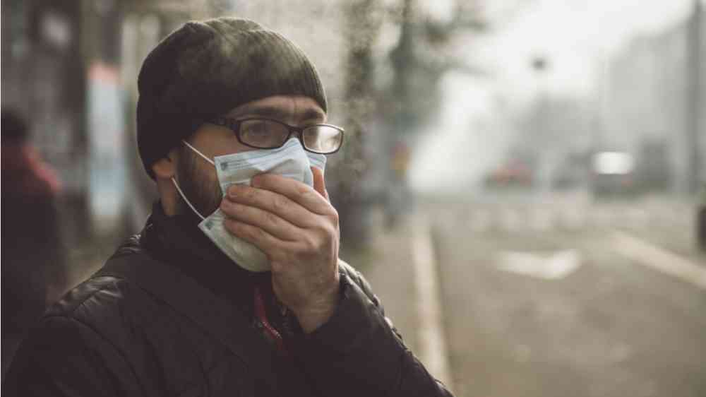
[(345, 268), (335, 314), (294, 347), (321, 396), (451, 396), (402, 343), (361, 275)]

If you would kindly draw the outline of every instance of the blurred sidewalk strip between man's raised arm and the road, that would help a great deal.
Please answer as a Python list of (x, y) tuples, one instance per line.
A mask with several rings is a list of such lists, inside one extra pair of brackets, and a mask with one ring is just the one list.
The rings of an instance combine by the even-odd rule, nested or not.
[(371, 283), (407, 348), (433, 377), (453, 390), (429, 220), (412, 211), (386, 228), (382, 211), (373, 210), (372, 225), (369, 249), (349, 252), (344, 247), (341, 257)]

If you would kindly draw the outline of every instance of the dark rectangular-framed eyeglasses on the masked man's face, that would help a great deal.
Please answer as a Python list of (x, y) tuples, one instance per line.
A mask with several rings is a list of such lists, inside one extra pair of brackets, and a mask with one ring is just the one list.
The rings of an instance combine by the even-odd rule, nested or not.
[(245, 146), (258, 149), (281, 148), (292, 133), (299, 134), (299, 141), (305, 150), (328, 155), (336, 153), (343, 143), (343, 129), (330, 124), (310, 126), (290, 126), (275, 119), (262, 117), (251, 119), (218, 118), (209, 121), (225, 126), (235, 133), (238, 141)]

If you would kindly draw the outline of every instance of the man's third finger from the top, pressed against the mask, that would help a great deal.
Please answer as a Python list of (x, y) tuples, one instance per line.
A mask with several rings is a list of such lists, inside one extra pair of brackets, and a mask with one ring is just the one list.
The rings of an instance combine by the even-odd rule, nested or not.
[(292, 225), (277, 214), (264, 211), (261, 208), (234, 203), (230, 200), (223, 200), (220, 208), (229, 218), (260, 227), (278, 239), (295, 241), (301, 233), (299, 227)]

